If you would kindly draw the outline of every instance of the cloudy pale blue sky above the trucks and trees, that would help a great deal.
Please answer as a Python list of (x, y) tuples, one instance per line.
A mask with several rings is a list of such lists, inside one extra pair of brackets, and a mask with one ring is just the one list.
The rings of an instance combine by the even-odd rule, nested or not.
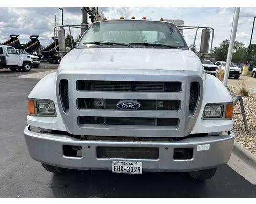
[[(64, 24), (81, 24), (81, 7), (62, 7)], [(200, 25), (212, 27), (215, 30), (214, 46), (223, 40), (230, 39), (234, 7), (101, 7), (107, 19), (119, 19), (120, 16), (141, 19), (182, 19), (185, 25)], [(9, 35), (19, 35), (21, 43), (30, 41), (30, 35), (39, 35), (43, 46), (53, 42), (53, 29), (62, 24), (61, 10), (58, 7), (0, 7), (0, 43), (10, 39)], [(249, 45), (253, 18), (256, 16), (256, 7), (241, 7), (236, 40)], [(90, 23), (90, 20), (89, 20)], [(256, 26), (254, 27), (256, 29)], [(79, 29), (71, 29), (74, 38), (80, 34)], [(256, 31), (255, 31), (256, 32)], [(200, 46), (201, 30), (196, 40)], [(256, 43), (253, 34), (252, 43)], [(184, 31), (187, 44), (194, 41), (195, 29)]]

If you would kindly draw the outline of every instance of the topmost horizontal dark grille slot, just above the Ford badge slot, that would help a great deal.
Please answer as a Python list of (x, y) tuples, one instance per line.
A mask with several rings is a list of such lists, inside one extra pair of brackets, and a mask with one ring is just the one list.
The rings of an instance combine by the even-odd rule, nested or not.
[(180, 92), (181, 82), (125, 82), (78, 80), (78, 91)]

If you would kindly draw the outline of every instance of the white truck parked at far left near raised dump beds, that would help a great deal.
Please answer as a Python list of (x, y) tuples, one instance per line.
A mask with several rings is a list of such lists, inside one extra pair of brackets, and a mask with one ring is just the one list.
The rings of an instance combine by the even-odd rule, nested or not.
[(30, 71), (32, 66), (33, 58), (30, 55), (19, 53), (12, 46), (0, 45), (0, 69)]

